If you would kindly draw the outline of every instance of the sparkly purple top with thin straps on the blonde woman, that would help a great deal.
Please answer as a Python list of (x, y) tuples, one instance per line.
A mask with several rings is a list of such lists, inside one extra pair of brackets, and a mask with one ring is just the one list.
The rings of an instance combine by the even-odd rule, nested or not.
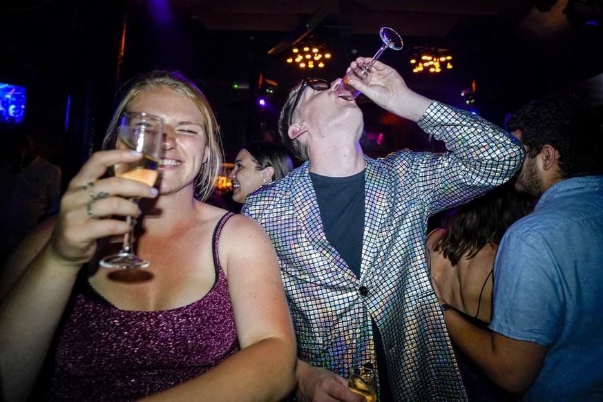
[(240, 350), (217, 247), (222, 225), (232, 215), (214, 231), (216, 282), (201, 300), (133, 312), (90, 294), (89, 285), (79, 292), (59, 338), (50, 400), (137, 399), (193, 379)]

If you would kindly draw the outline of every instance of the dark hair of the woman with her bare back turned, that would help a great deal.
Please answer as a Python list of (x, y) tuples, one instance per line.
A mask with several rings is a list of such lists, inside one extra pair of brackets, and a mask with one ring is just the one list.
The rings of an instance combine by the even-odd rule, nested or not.
[(467, 255), (473, 258), (487, 244), (498, 245), (513, 222), (525, 216), (530, 200), (513, 189), (514, 180), (482, 195), (442, 218), (446, 232), (434, 244), (452, 265)]

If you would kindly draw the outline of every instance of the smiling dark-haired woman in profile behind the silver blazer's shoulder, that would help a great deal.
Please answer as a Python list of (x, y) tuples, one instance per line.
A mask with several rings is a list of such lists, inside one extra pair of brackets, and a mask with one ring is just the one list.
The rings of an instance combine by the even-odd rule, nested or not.
[(285, 148), (269, 141), (250, 142), (237, 154), (235, 168), (228, 176), (232, 180), (233, 201), (242, 204), (247, 195), (284, 178), (292, 170), (293, 162)]

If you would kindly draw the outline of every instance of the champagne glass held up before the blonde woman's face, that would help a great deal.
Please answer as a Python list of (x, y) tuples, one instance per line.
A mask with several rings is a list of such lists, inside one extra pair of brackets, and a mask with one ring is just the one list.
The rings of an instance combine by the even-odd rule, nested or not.
[[(148, 113), (125, 112), (119, 119), (118, 149), (129, 149), (142, 153), (142, 159), (115, 165), (118, 178), (137, 180), (153, 186), (157, 180), (157, 166), (161, 157), (163, 120)], [(131, 198), (135, 203), (140, 197)], [(122, 250), (105, 257), (100, 265), (106, 268), (135, 269), (149, 266), (149, 261), (138, 257), (133, 251), (136, 219), (128, 216), (130, 231), (124, 235)]]

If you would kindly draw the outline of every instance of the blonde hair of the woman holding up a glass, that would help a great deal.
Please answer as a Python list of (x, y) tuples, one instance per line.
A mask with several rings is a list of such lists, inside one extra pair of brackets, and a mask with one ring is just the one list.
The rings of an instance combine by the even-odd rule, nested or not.
[(103, 140), (103, 149), (115, 148), (119, 116), (126, 111), (133, 99), (146, 90), (160, 88), (161, 86), (166, 86), (191, 99), (203, 115), (208, 157), (207, 162), (202, 164), (199, 174), (195, 179), (195, 198), (205, 201), (214, 191), (220, 169), (222, 168), (222, 161), (224, 160), (221, 133), (216, 116), (213, 114), (213, 110), (209, 106), (205, 95), (191, 80), (183, 77), (180, 73), (154, 70), (135, 79), (124, 97), (122, 97), (122, 101), (119, 102), (115, 113), (113, 113), (111, 123), (107, 128)]

